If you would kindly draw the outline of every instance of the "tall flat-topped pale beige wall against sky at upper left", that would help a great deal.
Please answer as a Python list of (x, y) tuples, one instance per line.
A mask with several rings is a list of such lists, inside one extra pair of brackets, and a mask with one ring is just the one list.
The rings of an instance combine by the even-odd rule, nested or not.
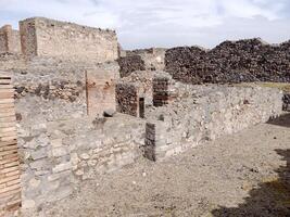
[(93, 62), (118, 58), (117, 37), (102, 30), (42, 17), (20, 22), (22, 51), (27, 56), (56, 56)]

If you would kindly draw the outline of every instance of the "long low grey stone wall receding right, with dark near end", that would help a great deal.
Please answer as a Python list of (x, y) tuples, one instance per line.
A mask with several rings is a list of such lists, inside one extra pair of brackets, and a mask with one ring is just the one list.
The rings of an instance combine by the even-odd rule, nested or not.
[(156, 161), (206, 140), (238, 132), (281, 114), (282, 93), (272, 88), (192, 86), (182, 99), (147, 111), (144, 154)]

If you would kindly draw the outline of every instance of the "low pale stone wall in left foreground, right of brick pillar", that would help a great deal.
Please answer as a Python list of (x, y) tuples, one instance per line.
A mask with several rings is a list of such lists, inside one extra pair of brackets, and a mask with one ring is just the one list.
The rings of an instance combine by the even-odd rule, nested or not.
[(122, 114), (29, 127), (20, 137), (24, 209), (66, 197), (81, 181), (134, 163), (144, 140), (144, 123)]

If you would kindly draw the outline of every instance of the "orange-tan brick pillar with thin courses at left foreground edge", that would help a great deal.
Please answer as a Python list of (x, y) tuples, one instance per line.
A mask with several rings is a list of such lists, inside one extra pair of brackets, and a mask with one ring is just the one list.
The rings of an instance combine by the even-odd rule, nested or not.
[(11, 75), (0, 72), (0, 216), (21, 206), (14, 89)]

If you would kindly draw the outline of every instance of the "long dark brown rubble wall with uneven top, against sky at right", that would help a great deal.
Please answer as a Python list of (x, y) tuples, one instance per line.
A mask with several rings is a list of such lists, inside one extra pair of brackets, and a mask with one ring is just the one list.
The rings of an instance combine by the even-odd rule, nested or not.
[(290, 42), (272, 46), (260, 39), (225, 41), (212, 50), (168, 49), (166, 72), (189, 82), (290, 81)]

